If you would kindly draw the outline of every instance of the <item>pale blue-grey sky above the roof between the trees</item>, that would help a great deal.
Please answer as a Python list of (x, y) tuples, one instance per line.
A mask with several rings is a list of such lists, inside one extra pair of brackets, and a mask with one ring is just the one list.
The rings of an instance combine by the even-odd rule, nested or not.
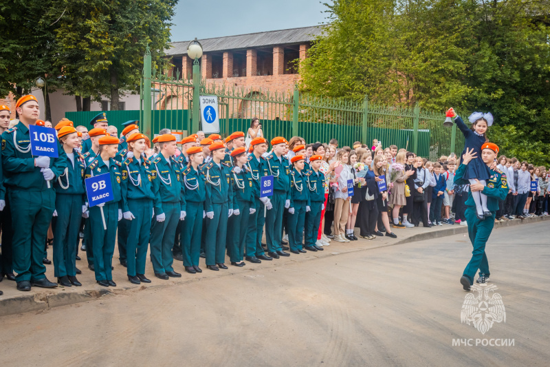
[(325, 10), (319, 0), (179, 0), (171, 41), (318, 25)]

